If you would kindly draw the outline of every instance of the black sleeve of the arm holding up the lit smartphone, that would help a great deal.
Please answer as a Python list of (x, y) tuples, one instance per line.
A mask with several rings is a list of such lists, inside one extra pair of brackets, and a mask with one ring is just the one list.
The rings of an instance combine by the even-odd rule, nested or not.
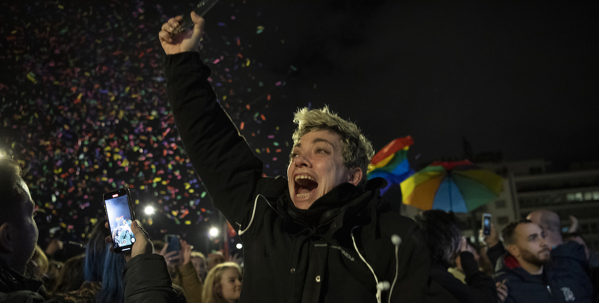
[(167, 262), (161, 255), (144, 253), (129, 260), (123, 268), (125, 303), (179, 302), (171, 286)]

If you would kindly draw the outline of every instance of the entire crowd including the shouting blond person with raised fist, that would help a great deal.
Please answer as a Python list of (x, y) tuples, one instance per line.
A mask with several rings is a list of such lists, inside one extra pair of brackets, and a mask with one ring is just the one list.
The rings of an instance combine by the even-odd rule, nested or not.
[(191, 17), (192, 30), (171, 35), (176, 17), (159, 33), (168, 97), (190, 163), (238, 227), (243, 267), (184, 240), (168, 252), (137, 221), (132, 249), (114, 253), (102, 219), (83, 255), (51, 266), (20, 167), (0, 158), (0, 302), (598, 302), (597, 252), (564, 240), (555, 213), (492, 227), (480, 249), (453, 213), (401, 216), (380, 196), (385, 180), (365, 176), (371, 143), (328, 108), (295, 114), (287, 177), (264, 176), (217, 103), (196, 51), (204, 20)]

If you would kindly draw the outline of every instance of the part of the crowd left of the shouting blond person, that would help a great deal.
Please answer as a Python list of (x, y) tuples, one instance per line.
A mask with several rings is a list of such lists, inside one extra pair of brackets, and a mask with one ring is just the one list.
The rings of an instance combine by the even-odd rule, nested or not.
[[(35, 244), (34, 202), (20, 171), (13, 160), (0, 158), (5, 210), (0, 218), (0, 302), (153, 302), (153, 298), (236, 302), (239, 298), (240, 265), (221, 262), (207, 267), (210, 262), (184, 240), (180, 250), (167, 253), (168, 244), (152, 244), (138, 222), (132, 224), (132, 231), (140, 244), (129, 255), (111, 251), (107, 221), (100, 219), (83, 254), (66, 262), (53, 260), (52, 253), (61, 249), (59, 241), (53, 241), (56, 249), (49, 246), (45, 252)], [(139, 256), (132, 261), (140, 253), (145, 259)]]

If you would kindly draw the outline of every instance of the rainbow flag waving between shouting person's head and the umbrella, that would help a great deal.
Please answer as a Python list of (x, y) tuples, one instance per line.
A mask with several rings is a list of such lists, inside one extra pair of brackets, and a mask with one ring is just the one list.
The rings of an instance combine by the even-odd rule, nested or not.
[(414, 140), (410, 136), (397, 138), (385, 145), (370, 160), (367, 172), (368, 180), (382, 177), (388, 183), (385, 188), (381, 189), (380, 194), (385, 194), (392, 185), (399, 184), (414, 174), (407, 159), (408, 149), (412, 144), (414, 144)]

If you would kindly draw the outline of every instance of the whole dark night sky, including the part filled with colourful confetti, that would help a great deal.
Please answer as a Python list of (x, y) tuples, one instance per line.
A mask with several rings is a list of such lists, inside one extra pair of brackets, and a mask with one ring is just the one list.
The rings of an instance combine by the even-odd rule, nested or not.
[[(41, 229), (84, 241), (101, 195), (128, 186), (138, 213), (158, 208), (143, 219), (156, 238), (204, 241), (217, 216), (174, 128), (157, 39), (192, 5), (1, 5), (0, 147), (28, 170)], [(598, 6), (221, 0), (200, 53), (267, 175), (285, 175), (293, 112), (325, 104), (376, 150), (412, 136), (415, 169), (461, 159), (464, 139), (475, 161), (597, 160)]]

